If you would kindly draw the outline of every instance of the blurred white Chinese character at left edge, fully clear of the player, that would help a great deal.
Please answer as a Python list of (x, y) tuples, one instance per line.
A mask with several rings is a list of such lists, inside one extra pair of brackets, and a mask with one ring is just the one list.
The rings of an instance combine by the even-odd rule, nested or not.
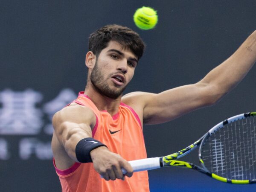
[(43, 96), (34, 90), (0, 92), (0, 134), (34, 135), (43, 126), (41, 109), (36, 104)]

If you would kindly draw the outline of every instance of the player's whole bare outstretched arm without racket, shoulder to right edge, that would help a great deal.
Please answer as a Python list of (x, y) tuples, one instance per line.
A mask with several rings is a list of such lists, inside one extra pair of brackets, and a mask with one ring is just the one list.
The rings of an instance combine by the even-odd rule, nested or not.
[(166, 90), (159, 94), (135, 92), (143, 107), (144, 124), (167, 122), (185, 113), (213, 105), (232, 90), (256, 61), (256, 31), (226, 61), (211, 70), (201, 81)]

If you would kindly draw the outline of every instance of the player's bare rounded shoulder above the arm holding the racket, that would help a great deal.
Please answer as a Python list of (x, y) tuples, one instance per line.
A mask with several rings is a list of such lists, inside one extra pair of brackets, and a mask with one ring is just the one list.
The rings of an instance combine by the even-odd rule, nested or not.
[(52, 118), (54, 128), (59, 127), (65, 122), (73, 122), (77, 124), (87, 123), (93, 125), (96, 123), (96, 116), (90, 108), (72, 103), (55, 113)]

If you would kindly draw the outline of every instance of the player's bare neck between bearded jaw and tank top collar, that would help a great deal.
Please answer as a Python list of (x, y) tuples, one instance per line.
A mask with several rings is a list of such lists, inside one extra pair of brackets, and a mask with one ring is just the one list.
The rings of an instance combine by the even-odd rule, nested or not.
[(108, 111), (108, 113), (113, 116), (118, 112), (119, 105), (121, 103), (121, 96), (119, 96), (116, 99), (111, 99), (107, 96), (104, 96), (100, 94), (98, 91), (96, 91), (95, 88), (93, 88), (92, 85), (86, 86), (84, 90), (84, 94), (90, 97), (94, 105), (99, 109), (99, 111)]

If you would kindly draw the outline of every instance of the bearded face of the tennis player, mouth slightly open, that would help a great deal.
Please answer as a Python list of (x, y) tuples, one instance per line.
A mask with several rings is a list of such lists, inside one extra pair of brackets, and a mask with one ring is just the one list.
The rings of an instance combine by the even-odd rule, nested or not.
[(134, 76), (137, 57), (116, 41), (102, 49), (90, 75), (96, 90), (111, 99), (117, 99)]

